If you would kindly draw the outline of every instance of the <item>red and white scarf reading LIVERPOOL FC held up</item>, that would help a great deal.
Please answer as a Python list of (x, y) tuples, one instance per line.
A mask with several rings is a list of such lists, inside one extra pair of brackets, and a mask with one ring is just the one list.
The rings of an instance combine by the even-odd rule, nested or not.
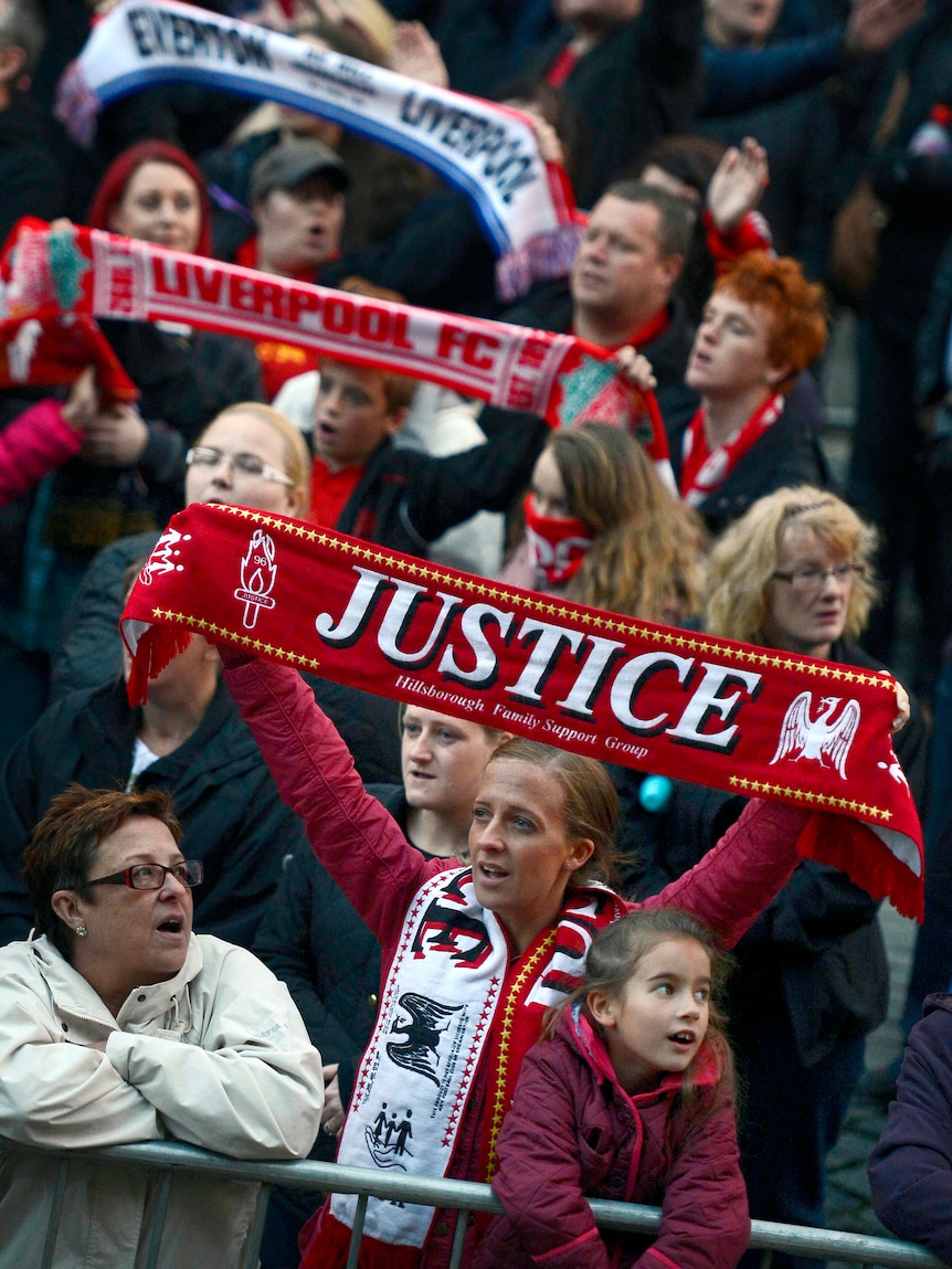
[(654, 393), (630, 386), (611, 353), (574, 335), (368, 299), (29, 218), (14, 227), (4, 259), (0, 319), (85, 313), (281, 340), (537, 414), (552, 426), (600, 419), (642, 439), (656, 463), (666, 462)]

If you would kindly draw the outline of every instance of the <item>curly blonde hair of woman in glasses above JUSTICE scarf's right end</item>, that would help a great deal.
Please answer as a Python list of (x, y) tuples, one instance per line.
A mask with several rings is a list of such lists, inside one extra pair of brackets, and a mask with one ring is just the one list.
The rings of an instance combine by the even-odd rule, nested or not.
[(811, 485), (778, 489), (757, 503), (717, 542), (707, 569), (706, 628), (722, 638), (763, 643), (769, 585), (786, 533), (802, 528), (833, 553), (859, 565), (847, 603), (845, 638), (858, 638), (878, 598), (872, 574), (877, 534), (852, 506)]

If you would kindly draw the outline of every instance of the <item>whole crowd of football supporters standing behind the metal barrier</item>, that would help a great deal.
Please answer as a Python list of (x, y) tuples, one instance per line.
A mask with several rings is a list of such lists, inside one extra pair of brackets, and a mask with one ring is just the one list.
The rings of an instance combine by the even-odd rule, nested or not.
[[(453, 1211), (371, 1198), (363, 1269), (443, 1269), (454, 1240), (473, 1269), (734, 1269), (751, 1216), (823, 1225), (885, 1016), (878, 901), (801, 858), (801, 807), (198, 632), (131, 706), (119, 615), (194, 503), (899, 671), (882, 778), (925, 821), (925, 924), (871, 1178), (886, 1226), (948, 1260), (949, 0), (195, 6), (208, 30), (293, 37), (300, 67), (343, 56), (523, 112), (575, 206), (571, 259), (528, 251), (514, 289), (472, 189), (371, 105), (350, 127), (170, 72), (90, 131), (81, 53), (127, 9), (0, 0), (0, 245), (22, 217), (88, 226), (586, 360), (542, 418), (287, 326), (4, 324), (0, 1266), (41, 1264), (53, 1209), (58, 1162), (17, 1143), (176, 1140), (494, 1185), (504, 1216), (458, 1233)], [(834, 326), (856, 329), (843, 471)], [(658, 1235), (600, 1233), (598, 1197), (659, 1206)], [(159, 1264), (244, 1263), (255, 1202), (175, 1179)], [(261, 1269), (348, 1263), (355, 1202), (277, 1189)], [(145, 1169), (70, 1161), (53, 1264), (135, 1269), (162, 1206)]]

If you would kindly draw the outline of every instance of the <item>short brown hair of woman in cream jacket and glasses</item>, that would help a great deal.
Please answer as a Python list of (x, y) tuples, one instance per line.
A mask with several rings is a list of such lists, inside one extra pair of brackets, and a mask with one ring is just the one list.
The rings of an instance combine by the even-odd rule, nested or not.
[(182, 843), (182, 825), (173, 802), (161, 789), (124, 793), (121, 789), (88, 789), (69, 784), (51, 801), (23, 853), (27, 882), (37, 930), (46, 934), (69, 961), (70, 938), (51, 900), (57, 890), (72, 890), (89, 898), (89, 869), (99, 846), (132, 816), (159, 820)]

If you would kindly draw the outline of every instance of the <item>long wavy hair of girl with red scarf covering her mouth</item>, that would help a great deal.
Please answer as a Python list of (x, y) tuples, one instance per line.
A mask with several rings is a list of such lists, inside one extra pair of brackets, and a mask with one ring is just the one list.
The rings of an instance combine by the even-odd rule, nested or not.
[(666, 624), (697, 615), (703, 524), (668, 492), (638, 442), (612, 424), (586, 423), (553, 433), (547, 448), (569, 510), (595, 538), (567, 598)]

